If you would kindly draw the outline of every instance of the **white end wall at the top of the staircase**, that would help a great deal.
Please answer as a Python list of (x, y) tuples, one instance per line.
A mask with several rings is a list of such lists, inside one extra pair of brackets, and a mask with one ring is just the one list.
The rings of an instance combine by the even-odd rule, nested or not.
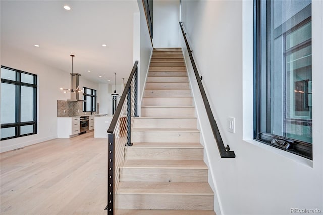
[(154, 48), (180, 47), (180, 1), (153, 1), (153, 46)]

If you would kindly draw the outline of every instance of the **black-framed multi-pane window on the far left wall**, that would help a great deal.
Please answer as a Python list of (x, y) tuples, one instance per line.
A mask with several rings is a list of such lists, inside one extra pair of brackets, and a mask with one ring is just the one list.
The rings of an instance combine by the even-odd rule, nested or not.
[(1, 140), (37, 133), (37, 75), (1, 66)]

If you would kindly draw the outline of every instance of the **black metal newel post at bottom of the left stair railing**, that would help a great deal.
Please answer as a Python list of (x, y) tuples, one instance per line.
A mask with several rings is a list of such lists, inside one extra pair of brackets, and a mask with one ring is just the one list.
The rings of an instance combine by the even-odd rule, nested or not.
[(107, 214), (114, 215), (114, 142), (115, 142), (115, 134), (109, 133), (107, 135), (107, 140), (109, 143), (108, 146), (108, 155), (107, 155)]

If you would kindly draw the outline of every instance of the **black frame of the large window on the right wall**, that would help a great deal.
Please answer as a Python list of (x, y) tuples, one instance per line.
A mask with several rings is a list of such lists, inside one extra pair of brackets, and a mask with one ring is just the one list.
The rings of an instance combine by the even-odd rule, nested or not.
[[(283, 136), (278, 136), (278, 135), (274, 135), (271, 133), (264, 133), (260, 131), (260, 68), (261, 68), (261, 47), (260, 47), (260, 20), (264, 17), (266, 19), (266, 14), (261, 16), (260, 13), (260, 4), (261, 4), (261, 0), (254, 0), (254, 6), (253, 6), (253, 139), (256, 141), (259, 141), (261, 143), (273, 146), (275, 148), (299, 155), (301, 157), (307, 158), (312, 160), (313, 159), (313, 152), (312, 152), (312, 144), (311, 143), (307, 143), (307, 142), (303, 142), (300, 140), (295, 140), (292, 138), (287, 138), (287, 137), (283, 137)], [(266, 4), (268, 4), (269, 1), (266, 1)], [(311, 13), (311, 4), (309, 4), (307, 7), (305, 7), (304, 10), (307, 10), (306, 13), (308, 13), (308, 11)], [(289, 23), (285, 22), (284, 24), (282, 24), (280, 26), (280, 28), (278, 29), (278, 31), (280, 32), (273, 32), (273, 34), (280, 34), (283, 35), (284, 38), (286, 36), (286, 34), (290, 33), (291, 31), (294, 31), (295, 29), (298, 29), (300, 26), (305, 25), (306, 23), (311, 22), (311, 16), (309, 18), (304, 19), (303, 21), (301, 21), (300, 23), (298, 23), (296, 26), (292, 26), (290, 29), (288, 29), (288, 25), (290, 25)], [(275, 35), (276, 38), (277, 35)], [(284, 39), (285, 41), (285, 39)], [(307, 40), (301, 44), (299, 44), (298, 46), (307, 46), (307, 45), (311, 45), (311, 39)], [(287, 55), (287, 53), (291, 52), (295, 50), (295, 46), (290, 48), (289, 50), (286, 50), (286, 47), (284, 45), (284, 52), (283, 52), (283, 56), (285, 58), (285, 56)], [(286, 92), (284, 93), (286, 95)], [(284, 96), (285, 96), (284, 95)], [(285, 109), (285, 106), (284, 106)], [(284, 114), (284, 121), (287, 120), (286, 115)], [(299, 120), (295, 120), (295, 119), (290, 119), (290, 120), (294, 120), (295, 123), (305, 123), (308, 125), (312, 125), (312, 120), (302, 120), (302, 122), (300, 122)], [(271, 141), (273, 139), (278, 139), (278, 140), (283, 140), (286, 141), (288, 144), (291, 145), (291, 147), (289, 149), (271, 144)]]

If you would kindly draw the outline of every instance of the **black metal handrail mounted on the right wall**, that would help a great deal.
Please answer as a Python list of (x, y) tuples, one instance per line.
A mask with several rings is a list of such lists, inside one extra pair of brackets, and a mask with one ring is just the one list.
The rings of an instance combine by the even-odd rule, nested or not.
[(236, 155), (235, 155), (234, 151), (230, 151), (229, 145), (227, 145), (227, 147), (224, 147), (224, 144), (223, 144), (223, 141), (222, 141), (222, 138), (221, 138), (221, 134), (219, 132), (216, 120), (214, 119), (214, 116), (213, 116), (213, 113), (212, 113), (212, 110), (211, 110), (211, 106), (210, 106), (210, 104), (208, 102), (208, 99), (207, 99), (207, 96), (206, 96), (206, 93), (205, 93), (205, 90), (204, 90), (204, 87), (203, 87), (203, 84), (202, 84), (202, 81), (201, 81), (202, 78), (198, 74), (198, 71), (197, 71), (197, 68), (196, 68), (196, 65), (195, 65), (195, 61), (193, 59), (192, 50), (191, 50), (191, 48), (190, 48), (190, 46), (189, 46), (189, 44), (187, 42), (186, 33), (183, 30), (183, 23), (179, 22), (179, 24), (180, 24), (180, 27), (181, 27), (181, 30), (182, 30), (182, 33), (183, 33), (183, 37), (184, 37), (184, 40), (185, 40), (185, 43), (186, 43), (188, 54), (189, 54), (191, 62), (192, 62), (192, 66), (193, 66), (194, 74), (195, 74), (195, 77), (196, 77), (196, 80), (197, 80), (197, 84), (198, 84), (198, 87), (199, 87), (201, 95), (202, 95), (202, 99), (203, 99), (203, 102), (204, 102), (204, 106), (205, 106), (205, 109), (206, 109), (208, 120), (209, 120), (209, 122), (211, 124), (213, 135), (214, 135), (214, 138), (216, 139), (216, 142), (217, 142), (217, 145), (218, 145), (220, 156), (222, 158), (235, 158)]

